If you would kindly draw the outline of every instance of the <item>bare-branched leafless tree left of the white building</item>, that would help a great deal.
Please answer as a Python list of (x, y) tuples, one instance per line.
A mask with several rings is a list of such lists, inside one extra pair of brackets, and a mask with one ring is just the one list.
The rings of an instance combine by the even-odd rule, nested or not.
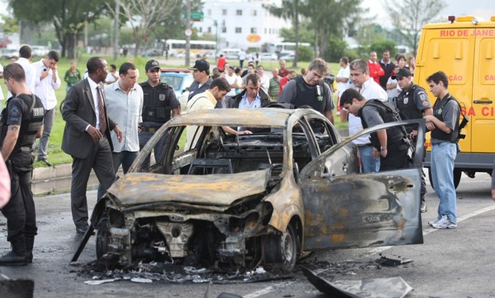
[(134, 56), (139, 53), (142, 41), (145, 42), (149, 35), (166, 21), (180, 7), (180, 0), (125, 0), (122, 2), (120, 12), (132, 28), (134, 44)]

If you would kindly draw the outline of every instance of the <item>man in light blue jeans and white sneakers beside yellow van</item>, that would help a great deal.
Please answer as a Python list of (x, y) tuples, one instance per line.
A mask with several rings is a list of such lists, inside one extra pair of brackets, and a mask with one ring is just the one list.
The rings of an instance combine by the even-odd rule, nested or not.
[(457, 205), (454, 186), (454, 160), (457, 155), (460, 106), (448, 91), (449, 80), (443, 71), (426, 79), (430, 92), (437, 97), (433, 115), (426, 115), (426, 127), (431, 130), (432, 182), (440, 199), (438, 215), (428, 225), (435, 229), (457, 228)]

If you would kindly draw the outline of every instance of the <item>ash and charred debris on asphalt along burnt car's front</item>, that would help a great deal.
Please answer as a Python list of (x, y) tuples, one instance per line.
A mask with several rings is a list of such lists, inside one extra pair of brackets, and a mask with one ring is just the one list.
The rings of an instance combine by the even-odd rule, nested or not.
[[(353, 276), (360, 273), (366, 275), (391, 267), (407, 268), (414, 266), (411, 259), (400, 256), (388, 258), (380, 255), (379, 258), (369, 260), (344, 260), (342, 262), (319, 261), (316, 257), (307, 258), (300, 265), (318, 272), (322, 277), (333, 280), (342, 276)], [(93, 261), (83, 265), (77, 275), (88, 280), (131, 280), (145, 278), (153, 281), (172, 283), (204, 283), (231, 284), (251, 283), (293, 278), (305, 278), (300, 267), (296, 266), (293, 272), (287, 271), (278, 265), (259, 266), (252, 271), (239, 269), (225, 270), (220, 268), (197, 268), (166, 262), (135, 262), (132, 266), (110, 265), (105, 261)], [(372, 274), (371, 274), (372, 275)]]

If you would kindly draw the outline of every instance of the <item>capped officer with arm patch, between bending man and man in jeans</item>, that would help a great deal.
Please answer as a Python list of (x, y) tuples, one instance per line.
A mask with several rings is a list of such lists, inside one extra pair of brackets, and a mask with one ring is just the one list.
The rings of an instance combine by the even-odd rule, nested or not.
[[(400, 68), (393, 80), (397, 80), (397, 85), (402, 89), (402, 92), (394, 98), (394, 104), (400, 113), (402, 120), (421, 119), (423, 116), (433, 115), (430, 99), (426, 94), (425, 89), (412, 82), (412, 75), (409, 69)], [(416, 147), (417, 130), (414, 127), (406, 126), (407, 132), (410, 133), (413, 145)], [(425, 150), (426, 152), (426, 150)], [(425, 175), (421, 176), (421, 212), (426, 212), (427, 205), (425, 200), (426, 181)]]

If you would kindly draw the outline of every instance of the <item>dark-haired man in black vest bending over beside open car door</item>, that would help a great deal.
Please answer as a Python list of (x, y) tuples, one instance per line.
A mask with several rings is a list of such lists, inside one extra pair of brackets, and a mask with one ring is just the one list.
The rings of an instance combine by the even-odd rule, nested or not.
[[(359, 116), (363, 128), (400, 120), (398, 112), (388, 103), (367, 100), (357, 90), (348, 89), (341, 95), (340, 106), (354, 116)], [(393, 127), (371, 133), (373, 157), (380, 158), (380, 171), (407, 169), (410, 167), (406, 132)]]

